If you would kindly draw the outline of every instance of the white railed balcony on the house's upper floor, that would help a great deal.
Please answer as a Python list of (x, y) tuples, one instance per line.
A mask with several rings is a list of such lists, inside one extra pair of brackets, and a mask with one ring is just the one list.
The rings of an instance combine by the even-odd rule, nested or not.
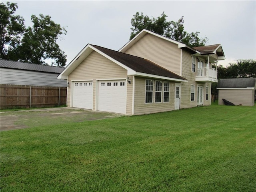
[(196, 69), (196, 81), (197, 82), (218, 82), (217, 80), (217, 71), (208, 68), (208, 67), (203, 67), (203, 68), (197, 68)]

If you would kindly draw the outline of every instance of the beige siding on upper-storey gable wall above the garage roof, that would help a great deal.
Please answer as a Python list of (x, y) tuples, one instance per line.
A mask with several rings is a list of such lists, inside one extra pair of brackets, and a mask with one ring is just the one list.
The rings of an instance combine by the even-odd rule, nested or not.
[(125, 53), (146, 58), (180, 75), (180, 48), (177, 44), (146, 34)]

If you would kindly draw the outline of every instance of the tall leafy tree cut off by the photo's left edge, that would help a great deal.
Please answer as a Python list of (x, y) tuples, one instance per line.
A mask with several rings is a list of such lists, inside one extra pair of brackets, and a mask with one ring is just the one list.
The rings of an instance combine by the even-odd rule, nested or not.
[(25, 31), (24, 19), (22, 16), (15, 16), (18, 8), (16, 3), (1, 3), (0, 21), (0, 54), (3, 59), (10, 59), (8, 51), (13, 50), (20, 44)]

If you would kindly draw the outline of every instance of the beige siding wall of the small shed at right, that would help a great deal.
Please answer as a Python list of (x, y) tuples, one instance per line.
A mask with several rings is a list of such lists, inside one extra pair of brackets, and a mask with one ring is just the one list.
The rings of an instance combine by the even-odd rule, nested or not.
[(226, 99), (235, 105), (254, 106), (254, 89), (220, 89), (219, 105), (224, 105), (222, 99)]

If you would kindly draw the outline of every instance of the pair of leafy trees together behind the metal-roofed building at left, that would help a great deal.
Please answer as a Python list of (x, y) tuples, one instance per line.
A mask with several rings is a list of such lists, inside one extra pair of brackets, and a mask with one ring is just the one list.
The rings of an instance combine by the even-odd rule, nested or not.
[(33, 26), (26, 27), (24, 18), (15, 15), (16, 3), (1, 3), (0, 54), (2, 59), (47, 65), (65, 66), (66, 54), (56, 40), (66, 34), (66, 29), (43, 14), (32, 15)]

